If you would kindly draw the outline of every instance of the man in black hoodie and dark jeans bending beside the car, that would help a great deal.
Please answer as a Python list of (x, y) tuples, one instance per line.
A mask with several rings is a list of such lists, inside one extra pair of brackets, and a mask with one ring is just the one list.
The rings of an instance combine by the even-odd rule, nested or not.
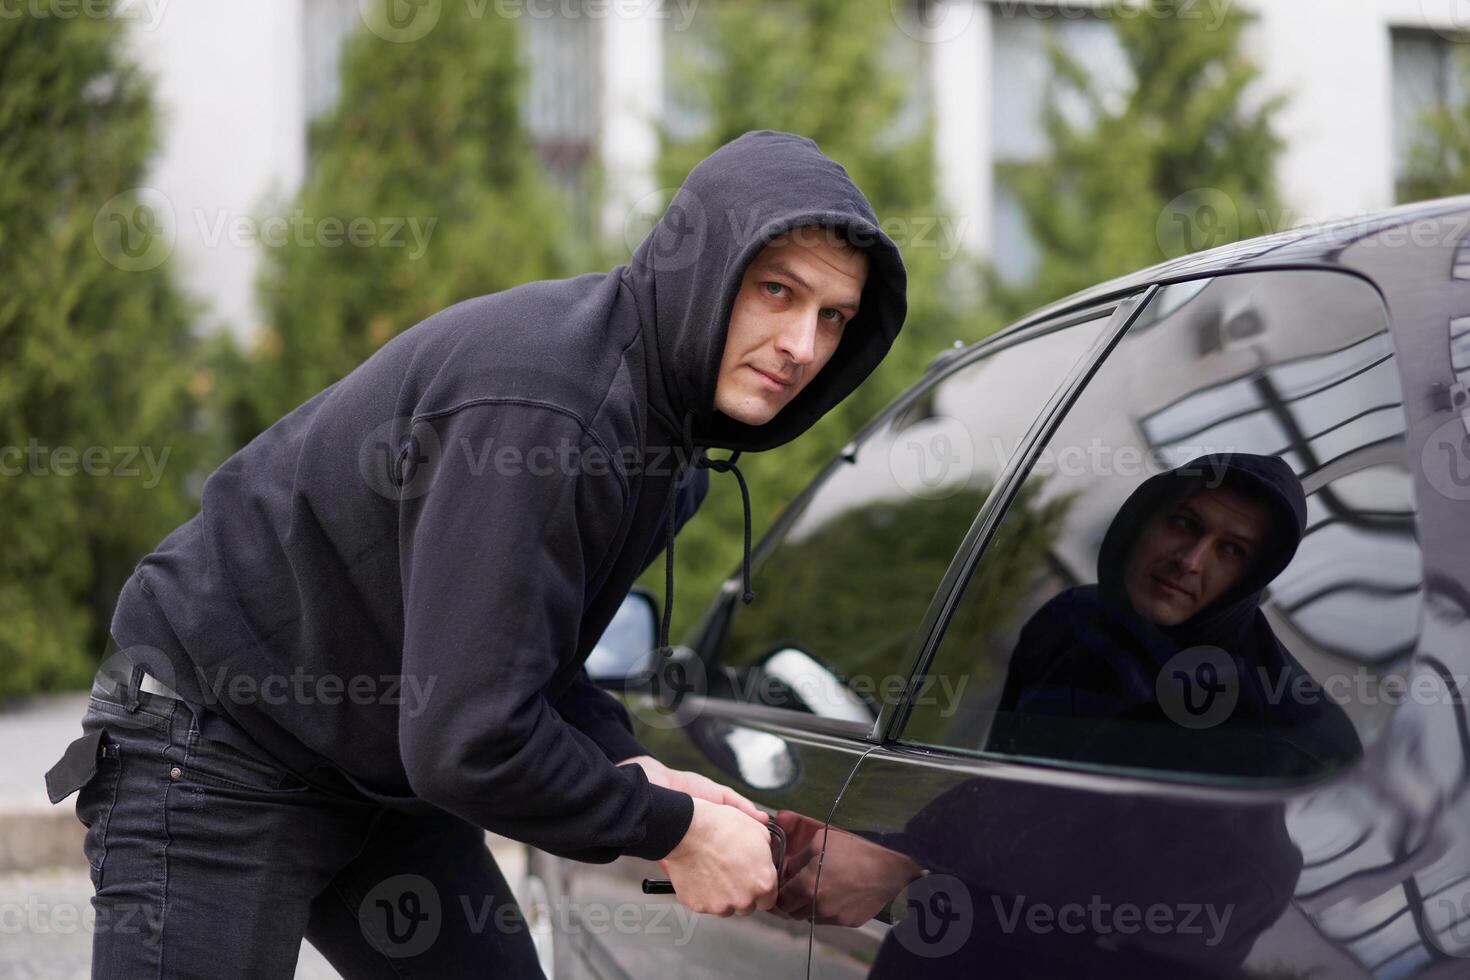
[(739, 453), (845, 398), (904, 289), (841, 166), (747, 134), (628, 266), (442, 310), (226, 460), (47, 774), (81, 789), (98, 920), (153, 924), (98, 930), (94, 976), (290, 976), (303, 934), (347, 976), (537, 976), (485, 918), (514, 904), (481, 829), (769, 908), (760, 811), (648, 758), (582, 663), (660, 541), (666, 651), (703, 469), (739, 480), (748, 566)]

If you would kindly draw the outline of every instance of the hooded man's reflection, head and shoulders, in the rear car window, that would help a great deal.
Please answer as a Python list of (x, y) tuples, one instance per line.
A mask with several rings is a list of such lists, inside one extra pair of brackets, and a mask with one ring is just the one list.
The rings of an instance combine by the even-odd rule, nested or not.
[(1145, 480), (1108, 526), (1098, 583), (1022, 630), (988, 748), (1248, 776), (1357, 758), (1347, 716), (1260, 610), (1305, 525), (1274, 457), (1204, 455)]

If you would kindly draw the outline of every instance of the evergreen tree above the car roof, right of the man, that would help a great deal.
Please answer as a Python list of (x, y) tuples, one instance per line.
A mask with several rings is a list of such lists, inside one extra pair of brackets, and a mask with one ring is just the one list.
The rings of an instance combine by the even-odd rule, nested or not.
[[(1044, 129), (1050, 151), (997, 167), (1039, 251), (1038, 273), (994, 282), (1011, 316), (1114, 276), (1276, 231), (1280, 98), (1252, 101), (1255, 68), (1241, 48), (1248, 16), (1219, 22), (1113, 10), (1132, 72), (1120, 103), (1053, 38)], [(1163, 16), (1169, 13), (1169, 16)]]

